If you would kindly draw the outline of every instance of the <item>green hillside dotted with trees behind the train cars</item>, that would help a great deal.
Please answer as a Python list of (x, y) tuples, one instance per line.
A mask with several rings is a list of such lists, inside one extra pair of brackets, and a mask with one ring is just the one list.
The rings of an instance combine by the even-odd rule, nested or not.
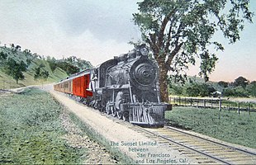
[[(8, 59), (14, 59), (17, 64), (23, 61), (27, 65), (27, 70), (24, 73), (25, 79), (16, 80), (6, 72), (6, 64)], [(59, 80), (68, 77), (72, 73), (77, 73), (83, 69), (91, 68), (92, 64), (86, 60), (78, 59), (71, 56), (67, 59), (55, 59), (32, 54), (30, 50), (21, 51), (20, 46), (11, 45), (10, 48), (0, 46), (0, 88), (24, 87), (28, 85), (41, 84), (42, 81), (36, 80), (36, 69), (49, 73), (49, 77), (43, 83), (58, 82)]]

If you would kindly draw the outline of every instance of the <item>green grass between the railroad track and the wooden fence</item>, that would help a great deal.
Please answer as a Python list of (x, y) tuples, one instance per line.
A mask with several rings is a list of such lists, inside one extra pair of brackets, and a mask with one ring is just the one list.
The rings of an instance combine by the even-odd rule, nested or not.
[(206, 134), (233, 144), (256, 148), (256, 112), (219, 111), (173, 106), (166, 111), (169, 125)]

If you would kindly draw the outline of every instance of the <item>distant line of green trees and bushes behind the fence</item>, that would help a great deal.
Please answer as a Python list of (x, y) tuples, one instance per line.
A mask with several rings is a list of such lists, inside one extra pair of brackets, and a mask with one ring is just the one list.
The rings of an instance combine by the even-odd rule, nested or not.
[(186, 97), (256, 97), (256, 81), (249, 82), (240, 76), (234, 82), (203, 82), (188, 78), (178, 83), (168, 78), (169, 92)]

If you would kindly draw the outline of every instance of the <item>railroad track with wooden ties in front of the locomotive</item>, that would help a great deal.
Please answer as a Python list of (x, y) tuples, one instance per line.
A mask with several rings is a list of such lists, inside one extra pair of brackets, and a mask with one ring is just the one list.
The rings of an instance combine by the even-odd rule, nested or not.
[[(256, 153), (222, 144), (211, 139), (202, 138), (195, 134), (172, 127), (163, 129), (143, 129), (149, 136), (158, 139), (159, 144), (169, 145), (188, 158), (197, 159), (198, 163), (210, 164), (255, 164)], [(160, 140), (159, 140), (160, 139)]]

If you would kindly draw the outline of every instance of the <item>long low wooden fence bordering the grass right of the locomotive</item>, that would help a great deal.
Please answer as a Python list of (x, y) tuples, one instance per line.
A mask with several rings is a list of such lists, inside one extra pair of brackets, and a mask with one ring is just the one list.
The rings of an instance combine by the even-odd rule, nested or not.
[(234, 102), (226, 99), (212, 98), (192, 98), (192, 97), (171, 97), (173, 106), (194, 106), (199, 108), (218, 108), (228, 111), (256, 111), (256, 104), (253, 102)]

